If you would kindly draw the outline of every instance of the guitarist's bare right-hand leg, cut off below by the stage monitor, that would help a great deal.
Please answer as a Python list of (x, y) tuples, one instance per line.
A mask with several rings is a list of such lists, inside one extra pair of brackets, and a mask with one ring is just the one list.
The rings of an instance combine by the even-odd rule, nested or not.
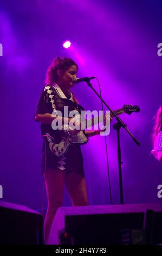
[(66, 175), (66, 188), (74, 206), (88, 205), (86, 179), (76, 172)]

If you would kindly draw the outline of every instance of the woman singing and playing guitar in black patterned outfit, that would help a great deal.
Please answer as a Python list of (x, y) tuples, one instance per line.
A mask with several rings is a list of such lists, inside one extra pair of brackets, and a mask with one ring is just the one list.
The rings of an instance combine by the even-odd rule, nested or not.
[[(85, 171), (80, 145), (70, 147), (63, 157), (57, 157), (50, 150), (53, 138), (56, 143), (61, 141), (59, 130), (53, 130), (52, 121), (57, 117), (54, 113), (68, 106), (69, 111), (83, 108), (78, 104), (70, 90), (74, 86), (78, 66), (70, 58), (54, 59), (49, 66), (46, 76), (46, 86), (43, 88), (36, 108), (35, 120), (41, 122), (43, 136), (42, 148), (42, 174), (46, 182), (48, 209), (44, 221), (44, 240), (47, 243), (51, 224), (57, 209), (62, 205), (63, 187), (66, 188), (74, 206), (88, 205)], [(53, 113), (53, 114), (52, 114)], [(63, 122), (69, 121), (63, 117)], [(68, 120), (67, 120), (68, 119)], [(98, 131), (85, 131), (87, 137), (99, 135)]]

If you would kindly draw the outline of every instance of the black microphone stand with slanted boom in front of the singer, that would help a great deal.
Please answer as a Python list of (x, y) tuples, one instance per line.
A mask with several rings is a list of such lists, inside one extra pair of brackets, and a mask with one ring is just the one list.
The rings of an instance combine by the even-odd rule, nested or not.
[(113, 117), (116, 118), (117, 123), (113, 125), (113, 128), (117, 131), (117, 138), (118, 138), (118, 166), (119, 166), (119, 186), (120, 186), (120, 204), (124, 204), (123, 200), (123, 191), (122, 191), (122, 169), (121, 169), (121, 164), (123, 163), (121, 161), (121, 149), (120, 149), (120, 128), (123, 127), (129, 136), (132, 137), (133, 141), (135, 144), (140, 146), (140, 143), (138, 140), (133, 136), (133, 134), (127, 129), (127, 125), (113, 112), (113, 110), (107, 105), (105, 100), (102, 99), (100, 94), (96, 92), (96, 90), (93, 88), (92, 84), (90, 83), (90, 78), (88, 81), (86, 81), (88, 86), (93, 90), (93, 92), (100, 98), (100, 100), (103, 102), (103, 104), (109, 109), (109, 111), (112, 113)]

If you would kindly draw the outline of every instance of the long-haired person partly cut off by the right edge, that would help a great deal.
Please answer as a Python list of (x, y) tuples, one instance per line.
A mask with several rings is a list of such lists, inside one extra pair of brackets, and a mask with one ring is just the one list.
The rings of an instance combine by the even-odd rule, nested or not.
[(153, 127), (153, 150), (151, 153), (162, 162), (162, 106), (159, 107), (154, 117), (155, 123)]

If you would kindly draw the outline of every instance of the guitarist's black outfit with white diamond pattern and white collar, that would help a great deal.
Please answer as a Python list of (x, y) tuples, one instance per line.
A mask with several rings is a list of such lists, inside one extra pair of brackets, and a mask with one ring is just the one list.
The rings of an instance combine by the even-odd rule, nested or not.
[[(64, 106), (68, 106), (69, 112), (74, 109), (77, 109), (77, 111), (83, 110), (80, 105), (74, 103), (72, 93), (70, 93), (70, 98), (67, 99), (57, 84), (54, 84), (53, 86), (46, 85), (38, 101), (35, 115), (45, 113), (51, 114), (57, 111), (61, 111), (63, 114)], [(60, 143), (62, 139), (59, 130), (53, 130), (51, 124), (41, 123), (41, 134), (42, 136), (49, 135), (53, 137), (56, 143)], [(85, 176), (80, 145), (70, 146), (64, 156), (57, 157), (49, 148), (50, 142), (50, 137), (43, 139), (41, 164), (42, 174), (46, 169), (60, 169), (66, 173), (74, 171)]]

